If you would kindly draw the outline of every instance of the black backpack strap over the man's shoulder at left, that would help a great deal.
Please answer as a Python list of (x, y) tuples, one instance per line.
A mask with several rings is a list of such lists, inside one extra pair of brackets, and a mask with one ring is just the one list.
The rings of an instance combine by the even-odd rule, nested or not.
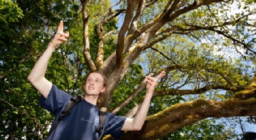
[(46, 138), (44, 138), (44, 140), (48, 139), (49, 136), (52, 134), (52, 132), (55, 130), (55, 128), (57, 127), (57, 125), (60, 123), (60, 121), (63, 119), (63, 117), (65, 116), (69, 116), (70, 115), (70, 111), (72, 110), (72, 108), (74, 106), (76, 106), (77, 103), (81, 102), (82, 97), (80, 96), (74, 96), (72, 97), (68, 104), (66, 104), (66, 107), (64, 108), (64, 110), (62, 111), (62, 113), (60, 113), (59, 119), (57, 120), (57, 122), (52, 126), (51, 130), (48, 133), (48, 136)]

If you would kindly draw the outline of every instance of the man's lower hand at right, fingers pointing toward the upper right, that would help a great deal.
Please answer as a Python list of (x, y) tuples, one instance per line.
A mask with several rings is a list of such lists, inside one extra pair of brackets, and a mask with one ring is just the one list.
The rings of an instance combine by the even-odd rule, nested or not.
[(147, 92), (154, 93), (155, 86), (157, 85), (157, 81), (165, 75), (165, 71), (162, 71), (158, 74), (157, 77), (151, 77), (151, 75), (146, 76), (146, 88)]

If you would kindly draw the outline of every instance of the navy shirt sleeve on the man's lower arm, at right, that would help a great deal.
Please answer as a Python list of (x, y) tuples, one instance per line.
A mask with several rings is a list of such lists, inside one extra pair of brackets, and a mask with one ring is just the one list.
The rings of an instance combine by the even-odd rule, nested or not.
[(115, 114), (107, 113), (107, 120), (104, 124), (104, 135), (111, 135), (113, 138), (120, 139), (124, 131), (121, 128), (126, 121), (124, 116), (115, 116)]

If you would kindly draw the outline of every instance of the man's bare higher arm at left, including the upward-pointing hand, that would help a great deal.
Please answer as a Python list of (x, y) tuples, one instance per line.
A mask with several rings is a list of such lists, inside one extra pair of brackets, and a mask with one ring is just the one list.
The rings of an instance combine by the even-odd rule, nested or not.
[(51, 57), (52, 52), (54, 52), (55, 49), (59, 46), (59, 44), (66, 41), (68, 36), (68, 32), (63, 33), (63, 21), (60, 21), (57, 33), (54, 35), (54, 38), (48, 44), (46, 51), (44, 51), (43, 55), (41, 55), (37, 63), (35, 63), (34, 68), (27, 77), (27, 79), (44, 96), (44, 98), (47, 98), (52, 87), (52, 83), (44, 77), (49, 58)]

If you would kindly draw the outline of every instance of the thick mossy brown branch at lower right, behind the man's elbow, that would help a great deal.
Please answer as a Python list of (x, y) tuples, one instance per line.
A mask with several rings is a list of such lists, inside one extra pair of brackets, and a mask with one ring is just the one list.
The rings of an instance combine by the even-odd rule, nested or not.
[[(252, 105), (256, 99), (251, 100), (227, 100), (217, 102), (215, 100), (194, 100), (187, 103), (177, 103), (166, 110), (149, 116), (140, 133), (124, 133), (121, 139), (129, 136), (137, 136), (132, 139), (157, 139), (188, 124), (200, 121), (207, 117), (231, 117), (231, 116), (255, 116), (256, 108)], [(133, 135), (130, 135), (133, 133)]]

